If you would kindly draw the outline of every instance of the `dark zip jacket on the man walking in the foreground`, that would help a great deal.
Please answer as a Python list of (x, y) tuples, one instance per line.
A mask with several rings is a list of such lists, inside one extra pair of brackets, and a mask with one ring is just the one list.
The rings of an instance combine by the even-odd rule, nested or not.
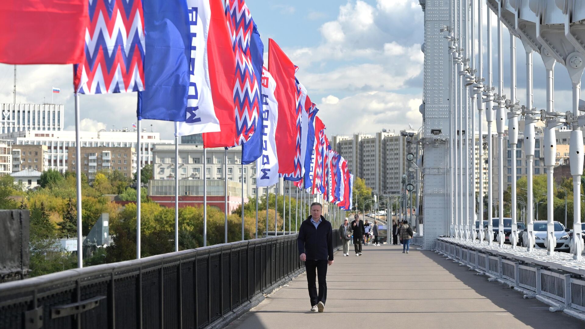
[(307, 260), (333, 261), (333, 229), (331, 223), (321, 216), (321, 222), (315, 229), (311, 216), (301, 223), (298, 231), (298, 254), (304, 253)]

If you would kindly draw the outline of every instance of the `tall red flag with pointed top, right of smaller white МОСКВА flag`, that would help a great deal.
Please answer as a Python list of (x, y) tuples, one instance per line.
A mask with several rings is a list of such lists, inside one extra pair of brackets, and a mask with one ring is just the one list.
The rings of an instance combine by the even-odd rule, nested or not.
[(276, 81), (274, 97), (278, 102), (278, 122), (276, 129), (276, 155), (278, 173), (294, 172), (294, 158), (297, 154), (297, 100), (295, 85), (295, 66), (274, 40), (269, 39), (268, 71)]

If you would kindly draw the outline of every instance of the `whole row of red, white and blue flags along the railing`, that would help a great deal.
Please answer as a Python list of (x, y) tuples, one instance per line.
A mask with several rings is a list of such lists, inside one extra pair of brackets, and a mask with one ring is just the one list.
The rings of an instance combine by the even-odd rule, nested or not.
[(205, 148), (242, 146), (257, 186), (280, 177), (350, 210), (353, 175), (292, 63), (268, 63), (245, 0), (5, 0), (0, 63), (74, 64), (79, 94), (137, 92), (137, 119)]

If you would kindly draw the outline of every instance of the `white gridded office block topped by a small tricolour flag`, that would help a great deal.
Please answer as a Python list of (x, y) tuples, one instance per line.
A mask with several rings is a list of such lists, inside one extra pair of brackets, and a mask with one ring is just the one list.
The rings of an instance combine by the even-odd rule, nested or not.
[(61, 104), (0, 104), (0, 133), (16, 131), (62, 131)]

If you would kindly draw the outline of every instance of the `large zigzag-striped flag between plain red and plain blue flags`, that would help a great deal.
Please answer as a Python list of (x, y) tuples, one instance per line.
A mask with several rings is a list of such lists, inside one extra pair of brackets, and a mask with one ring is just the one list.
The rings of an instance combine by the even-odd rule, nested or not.
[(81, 94), (144, 90), (142, 0), (90, 0), (85, 59), (74, 66)]

